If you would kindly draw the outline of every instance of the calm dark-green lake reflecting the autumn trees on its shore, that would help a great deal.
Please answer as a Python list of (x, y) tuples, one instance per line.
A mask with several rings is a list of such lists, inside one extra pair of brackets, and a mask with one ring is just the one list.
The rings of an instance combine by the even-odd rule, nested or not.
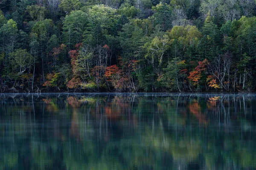
[(251, 170), (256, 94), (0, 94), (1, 170)]

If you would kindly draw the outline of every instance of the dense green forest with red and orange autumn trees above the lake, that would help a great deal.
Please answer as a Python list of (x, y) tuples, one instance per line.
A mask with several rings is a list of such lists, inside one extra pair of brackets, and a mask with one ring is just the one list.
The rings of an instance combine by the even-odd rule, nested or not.
[(0, 0), (0, 92), (254, 91), (254, 0)]

